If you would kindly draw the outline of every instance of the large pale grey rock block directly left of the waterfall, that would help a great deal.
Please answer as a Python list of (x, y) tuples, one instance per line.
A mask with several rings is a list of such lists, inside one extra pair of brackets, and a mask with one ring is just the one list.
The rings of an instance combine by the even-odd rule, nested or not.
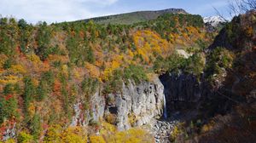
[(116, 108), (119, 130), (149, 123), (163, 113), (164, 86), (158, 78), (153, 83), (123, 83), (121, 93), (110, 96), (114, 98), (114, 104), (107, 110), (109, 107)]

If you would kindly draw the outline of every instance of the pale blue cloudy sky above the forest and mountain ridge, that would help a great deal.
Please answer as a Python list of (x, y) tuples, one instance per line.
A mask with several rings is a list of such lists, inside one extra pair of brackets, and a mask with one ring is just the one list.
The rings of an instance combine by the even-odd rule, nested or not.
[(170, 8), (212, 16), (217, 14), (213, 7), (228, 16), (228, 0), (0, 0), (0, 14), (3, 17), (25, 19), (33, 24), (38, 21), (73, 21), (108, 14)]

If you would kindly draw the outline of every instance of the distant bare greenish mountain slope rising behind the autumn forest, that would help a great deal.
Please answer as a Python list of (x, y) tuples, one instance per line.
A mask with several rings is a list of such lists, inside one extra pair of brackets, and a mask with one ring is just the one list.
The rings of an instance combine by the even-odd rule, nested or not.
[[(124, 24), (129, 25), (146, 20), (155, 20), (162, 14), (188, 14), (183, 9), (164, 9), (158, 11), (138, 11), (127, 14), (114, 14), (109, 16), (96, 17), (85, 21), (94, 20), (98, 24)], [(81, 20), (79, 20), (81, 21)]]

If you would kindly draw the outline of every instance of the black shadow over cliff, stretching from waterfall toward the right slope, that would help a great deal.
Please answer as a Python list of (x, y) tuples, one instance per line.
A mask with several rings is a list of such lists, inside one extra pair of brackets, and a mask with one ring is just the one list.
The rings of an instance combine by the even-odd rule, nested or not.
[(204, 77), (199, 80), (192, 74), (167, 72), (161, 75), (167, 117), (183, 121), (198, 118), (207, 120), (218, 114), (231, 112), (232, 106), (244, 102), (245, 99), (231, 92), (232, 77), (230, 73), (228, 75), (219, 89), (214, 89)]

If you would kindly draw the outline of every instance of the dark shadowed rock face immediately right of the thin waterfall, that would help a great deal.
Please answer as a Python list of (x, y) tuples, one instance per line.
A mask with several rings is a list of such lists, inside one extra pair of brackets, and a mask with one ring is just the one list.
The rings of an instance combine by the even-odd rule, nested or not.
[(168, 114), (196, 107), (201, 100), (202, 84), (193, 75), (166, 73), (160, 80), (165, 86)]

